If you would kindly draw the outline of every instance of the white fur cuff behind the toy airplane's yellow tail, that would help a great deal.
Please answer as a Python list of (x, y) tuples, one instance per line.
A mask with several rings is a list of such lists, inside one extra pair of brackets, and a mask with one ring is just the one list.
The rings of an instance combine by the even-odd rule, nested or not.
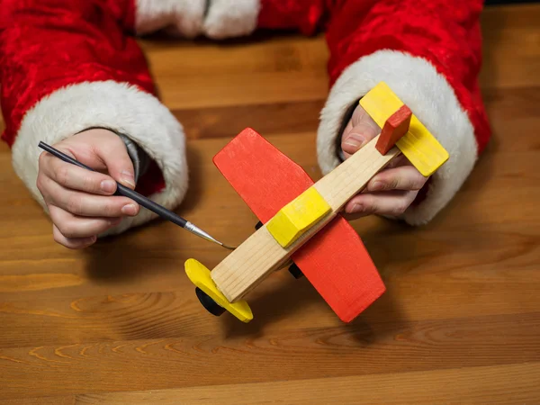
[(338, 130), (347, 108), (381, 81), (390, 85), (450, 154), (433, 175), (426, 200), (411, 206), (401, 217), (411, 225), (420, 225), (450, 202), (473, 170), (478, 154), (467, 113), (445, 77), (426, 59), (379, 50), (343, 71), (321, 112), (317, 137), (320, 168), (327, 174), (338, 166)]

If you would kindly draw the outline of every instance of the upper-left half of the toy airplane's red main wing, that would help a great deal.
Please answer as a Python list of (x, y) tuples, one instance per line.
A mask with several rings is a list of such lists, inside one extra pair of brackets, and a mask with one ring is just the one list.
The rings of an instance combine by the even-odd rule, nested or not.
[(301, 166), (250, 128), (222, 148), (213, 162), (263, 223), (313, 184)]

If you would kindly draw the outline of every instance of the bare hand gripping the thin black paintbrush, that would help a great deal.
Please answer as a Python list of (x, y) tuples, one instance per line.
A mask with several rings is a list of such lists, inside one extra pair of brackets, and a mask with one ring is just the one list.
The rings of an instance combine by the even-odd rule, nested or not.
[(118, 225), (122, 217), (139, 213), (137, 202), (112, 195), (116, 182), (135, 188), (133, 164), (118, 135), (110, 130), (86, 130), (54, 147), (96, 170), (66, 163), (47, 152), (40, 155), (37, 186), (49, 209), (54, 239), (60, 245), (88, 247), (98, 234)]

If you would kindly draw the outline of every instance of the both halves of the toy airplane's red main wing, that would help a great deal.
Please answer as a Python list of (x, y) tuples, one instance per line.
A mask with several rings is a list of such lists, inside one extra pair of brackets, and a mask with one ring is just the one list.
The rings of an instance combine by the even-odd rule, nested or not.
[[(263, 223), (313, 184), (301, 166), (251, 129), (240, 132), (213, 161)], [(340, 215), (292, 258), (346, 322), (385, 291), (362, 240)]]

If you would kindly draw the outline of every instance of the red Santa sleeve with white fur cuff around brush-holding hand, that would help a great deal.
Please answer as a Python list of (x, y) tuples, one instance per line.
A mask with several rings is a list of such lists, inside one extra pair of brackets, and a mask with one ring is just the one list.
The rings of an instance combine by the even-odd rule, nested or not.
[[(133, 37), (135, 21), (132, 0), (1, 2), (3, 139), (15, 171), (41, 203), (39, 141), (54, 144), (91, 127), (123, 133), (153, 158), (155, 167), (140, 179), (145, 193), (169, 208), (183, 198), (184, 133), (156, 98)], [(143, 210), (119, 229), (148, 218)]]

